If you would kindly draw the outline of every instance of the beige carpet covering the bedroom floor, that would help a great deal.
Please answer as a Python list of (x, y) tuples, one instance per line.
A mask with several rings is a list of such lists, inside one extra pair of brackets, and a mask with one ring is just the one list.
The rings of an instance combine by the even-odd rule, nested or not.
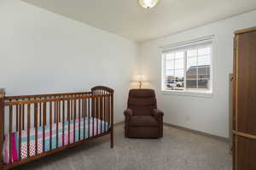
[(162, 139), (125, 139), (124, 125), (109, 136), (44, 157), (15, 169), (26, 170), (231, 170), (228, 144), (173, 127)]

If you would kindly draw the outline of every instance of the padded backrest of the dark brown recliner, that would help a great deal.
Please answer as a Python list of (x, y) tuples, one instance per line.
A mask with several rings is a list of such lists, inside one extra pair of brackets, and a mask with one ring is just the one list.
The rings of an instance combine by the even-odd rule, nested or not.
[(131, 89), (129, 92), (128, 106), (135, 116), (150, 115), (157, 108), (153, 89)]

